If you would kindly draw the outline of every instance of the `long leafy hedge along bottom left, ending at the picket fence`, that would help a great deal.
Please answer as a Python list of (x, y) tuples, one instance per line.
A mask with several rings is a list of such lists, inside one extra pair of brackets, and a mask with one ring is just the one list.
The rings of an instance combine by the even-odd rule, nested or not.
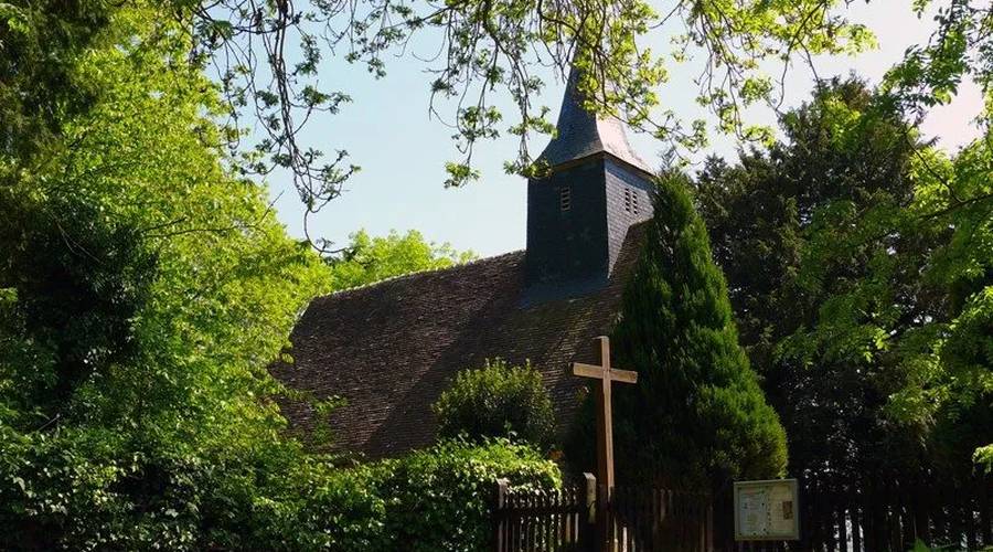
[(28, 470), (0, 464), (2, 550), (485, 550), (498, 478), (560, 484), (554, 463), (505, 439), (442, 442), (352, 468), (290, 447), (269, 450), (264, 466), (247, 454), (137, 459), (120, 477), (93, 450), (20, 452), (18, 464), (42, 461), (45, 476), (23, 480)]

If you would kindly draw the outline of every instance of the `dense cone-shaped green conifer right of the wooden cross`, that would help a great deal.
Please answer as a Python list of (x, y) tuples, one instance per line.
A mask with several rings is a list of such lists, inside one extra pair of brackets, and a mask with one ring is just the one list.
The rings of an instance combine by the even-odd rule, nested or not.
[(724, 490), (782, 475), (786, 435), (732, 320), (727, 288), (684, 178), (659, 183), (613, 331), (637, 385), (615, 394), (618, 473)]

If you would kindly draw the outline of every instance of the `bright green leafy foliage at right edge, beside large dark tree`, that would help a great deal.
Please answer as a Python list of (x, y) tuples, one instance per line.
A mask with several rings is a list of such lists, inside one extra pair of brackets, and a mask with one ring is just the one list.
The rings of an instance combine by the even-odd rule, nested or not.
[[(989, 21), (989, 20), (987, 20)], [(987, 97), (993, 97), (986, 89)], [(947, 235), (922, 278), (947, 291), (949, 316), (930, 320), (922, 361), (890, 408), (899, 420), (935, 420), (933, 435), (961, 470), (970, 453), (993, 473), (993, 103), (984, 135), (950, 161), (920, 163), (915, 231)], [(950, 235), (949, 235), (950, 234)], [(965, 464), (965, 466), (963, 466)]]

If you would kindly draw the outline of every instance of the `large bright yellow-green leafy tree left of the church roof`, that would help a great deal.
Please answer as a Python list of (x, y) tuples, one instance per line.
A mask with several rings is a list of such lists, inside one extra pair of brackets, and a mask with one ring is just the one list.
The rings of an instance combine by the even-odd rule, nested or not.
[(33, 171), (3, 150), (2, 548), (239, 546), (323, 473), (266, 367), (327, 268), (225, 170), (182, 36), (115, 12), (72, 68), (94, 103), (53, 114)]

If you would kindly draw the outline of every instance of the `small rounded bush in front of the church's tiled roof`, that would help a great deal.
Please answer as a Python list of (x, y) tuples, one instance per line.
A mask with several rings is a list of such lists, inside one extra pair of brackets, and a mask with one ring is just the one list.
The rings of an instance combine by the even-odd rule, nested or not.
[(459, 372), (433, 410), (442, 437), (508, 437), (541, 449), (555, 438), (552, 399), (531, 364), (509, 367), (495, 359)]

